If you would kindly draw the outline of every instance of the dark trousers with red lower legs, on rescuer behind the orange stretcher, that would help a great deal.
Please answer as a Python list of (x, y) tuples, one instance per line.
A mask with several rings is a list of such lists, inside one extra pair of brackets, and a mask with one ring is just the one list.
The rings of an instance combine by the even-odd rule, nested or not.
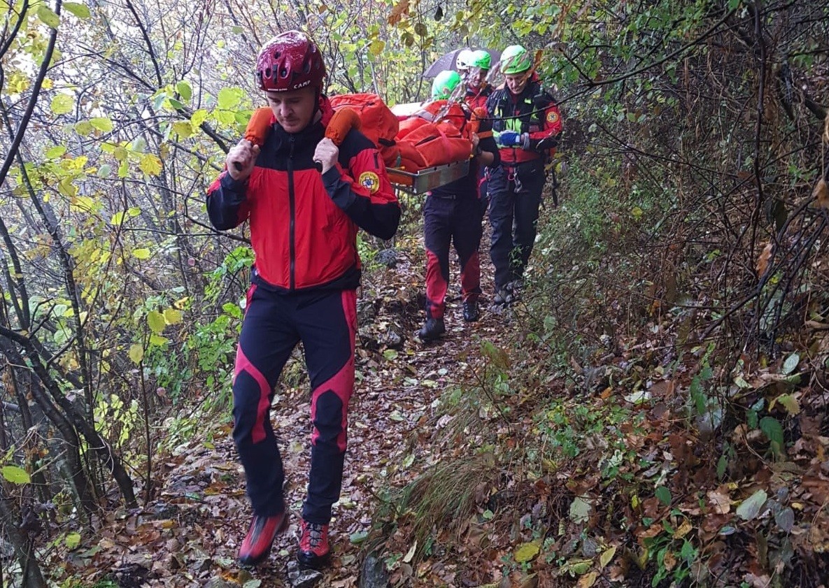
[(477, 198), (447, 198), (429, 195), (424, 205), (426, 246), (426, 316), (444, 317), (449, 282), (449, 245), (454, 244), (461, 265), (464, 301), (477, 301), (481, 294), (481, 203)]

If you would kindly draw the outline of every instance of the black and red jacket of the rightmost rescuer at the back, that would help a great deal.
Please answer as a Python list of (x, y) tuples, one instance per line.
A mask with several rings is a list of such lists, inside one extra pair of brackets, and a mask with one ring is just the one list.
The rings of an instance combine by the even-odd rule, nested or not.
[(521, 94), (512, 94), (506, 85), (492, 92), (487, 99), (487, 112), (492, 116), (492, 130), (496, 133), (516, 131), (530, 135), (528, 150), (501, 147), (504, 166), (545, 157), (548, 149), (538, 150), (536, 146), (561, 132), (559, 107), (552, 95), (541, 87), (537, 74), (532, 75)]

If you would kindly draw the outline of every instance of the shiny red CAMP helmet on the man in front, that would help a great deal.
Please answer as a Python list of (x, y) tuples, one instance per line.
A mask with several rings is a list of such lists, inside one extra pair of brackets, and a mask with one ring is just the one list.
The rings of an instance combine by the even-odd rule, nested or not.
[(256, 60), (259, 89), (285, 92), (305, 87), (321, 88), (325, 77), (316, 43), (303, 32), (286, 31), (268, 41)]

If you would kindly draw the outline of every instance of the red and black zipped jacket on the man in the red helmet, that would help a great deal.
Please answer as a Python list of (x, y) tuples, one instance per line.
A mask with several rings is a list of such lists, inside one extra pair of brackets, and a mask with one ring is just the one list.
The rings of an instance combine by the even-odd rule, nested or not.
[(255, 253), (253, 281), (278, 291), (350, 289), (360, 282), (357, 229), (390, 239), (400, 222), (385, 164), (375, 145), (351, 129), (339, 146), (337, 166), (320, 174), (312, 160), (332, 109), (299, 133), (273, 123), (247, 181), (227, 171), (207, 192), (216, 229), (250, 220)]

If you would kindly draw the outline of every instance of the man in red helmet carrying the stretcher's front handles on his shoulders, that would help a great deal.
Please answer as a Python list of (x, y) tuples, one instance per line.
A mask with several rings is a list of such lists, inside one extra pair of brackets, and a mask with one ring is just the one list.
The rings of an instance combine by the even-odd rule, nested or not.
[[(354, 388), (358, 228), (390, 239), (400, 205), (376, 147), (351, 129), (323, 138), (332, 108), (322, 94), (318, 46), (284, 32), (259, 53), (256, 80), (273, 110), (264, 144), (242, 140), (213, 182), (216, 229), (250, 221), (255, 253), (233, 381), (233, 438), (245, 468), (253, 520), (239, 549), (251, 566), (288, 528), (284, 470), (269, 411), (274, 386), (302, 341), (311, 379), (311, 470), (298, 560), (327, 563), (328, 524), (342, 486), (348, 401)], [(321, 165), (321, 171), (318, 166)]]

